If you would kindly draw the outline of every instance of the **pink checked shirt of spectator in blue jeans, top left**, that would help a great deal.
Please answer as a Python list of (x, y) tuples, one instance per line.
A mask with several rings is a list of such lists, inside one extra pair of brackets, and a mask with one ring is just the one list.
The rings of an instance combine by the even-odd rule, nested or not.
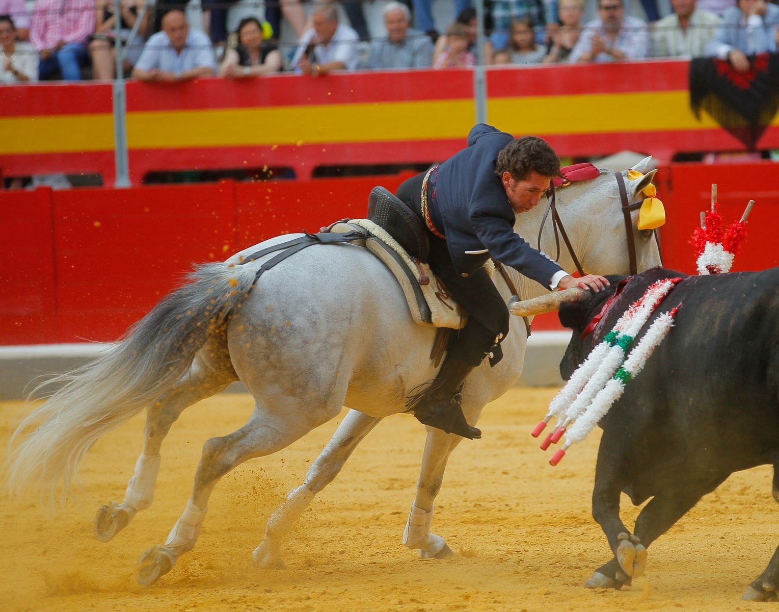
[(30, 42), (38, 51), (59, 41), (86, 44), (95, 30), (93, 0), (36, 0), (30, 19)]

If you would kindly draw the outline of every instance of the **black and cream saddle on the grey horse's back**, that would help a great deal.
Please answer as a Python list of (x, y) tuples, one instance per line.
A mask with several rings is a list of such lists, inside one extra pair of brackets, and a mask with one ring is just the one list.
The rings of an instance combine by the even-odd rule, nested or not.
[(415, 323), (450, 329), (465, 326), (467, 313), (425, 263), (430, 252), (425, 228), (393, 193), (374, 187), (368, 197), (367, 218), (344, 219), (322, 228), (322, 232), (354, 230), (368, 232), (365, 247), (397, 278)]

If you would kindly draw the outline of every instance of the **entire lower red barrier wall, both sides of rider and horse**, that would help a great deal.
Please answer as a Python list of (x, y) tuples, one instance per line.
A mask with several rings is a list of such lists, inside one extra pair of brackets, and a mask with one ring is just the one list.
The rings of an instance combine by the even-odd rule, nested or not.
[[(695, 272), (688, 241), (713, 182), (728, 225), (756, 200), (734, 269), (779, 265), (777, 169), (770, 162), (661, 169), (655, 182), (668, 218), (661, 228), (665, 265)], [(2, 192), (0, 344), (113, 341), (193, 263), (362, 217), (372, 186), (394, 190), (406, 176)], [(550, 327), (553, 317), (535, 325)]]

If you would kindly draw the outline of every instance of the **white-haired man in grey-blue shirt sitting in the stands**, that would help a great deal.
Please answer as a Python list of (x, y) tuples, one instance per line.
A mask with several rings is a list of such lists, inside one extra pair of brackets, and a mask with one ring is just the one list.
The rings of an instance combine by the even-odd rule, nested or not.
[(430, 68), (433, 43), (427, 34), (410, 28), (411, 11), (400, 2), (389, 2), (383, 10), (387, 35), (371, 43), (368, 68)]

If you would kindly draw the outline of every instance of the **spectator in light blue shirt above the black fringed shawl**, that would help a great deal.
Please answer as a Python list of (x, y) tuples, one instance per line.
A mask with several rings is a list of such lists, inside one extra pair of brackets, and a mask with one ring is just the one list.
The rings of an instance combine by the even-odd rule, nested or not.
[(708, 55), (728, 59), (739, 72), (749, 70), (747, 55), (773, 53), (777, 49), (779, 6), (765, 0), (738, 0), (724, 12), (722, 23), (710, 41)]

